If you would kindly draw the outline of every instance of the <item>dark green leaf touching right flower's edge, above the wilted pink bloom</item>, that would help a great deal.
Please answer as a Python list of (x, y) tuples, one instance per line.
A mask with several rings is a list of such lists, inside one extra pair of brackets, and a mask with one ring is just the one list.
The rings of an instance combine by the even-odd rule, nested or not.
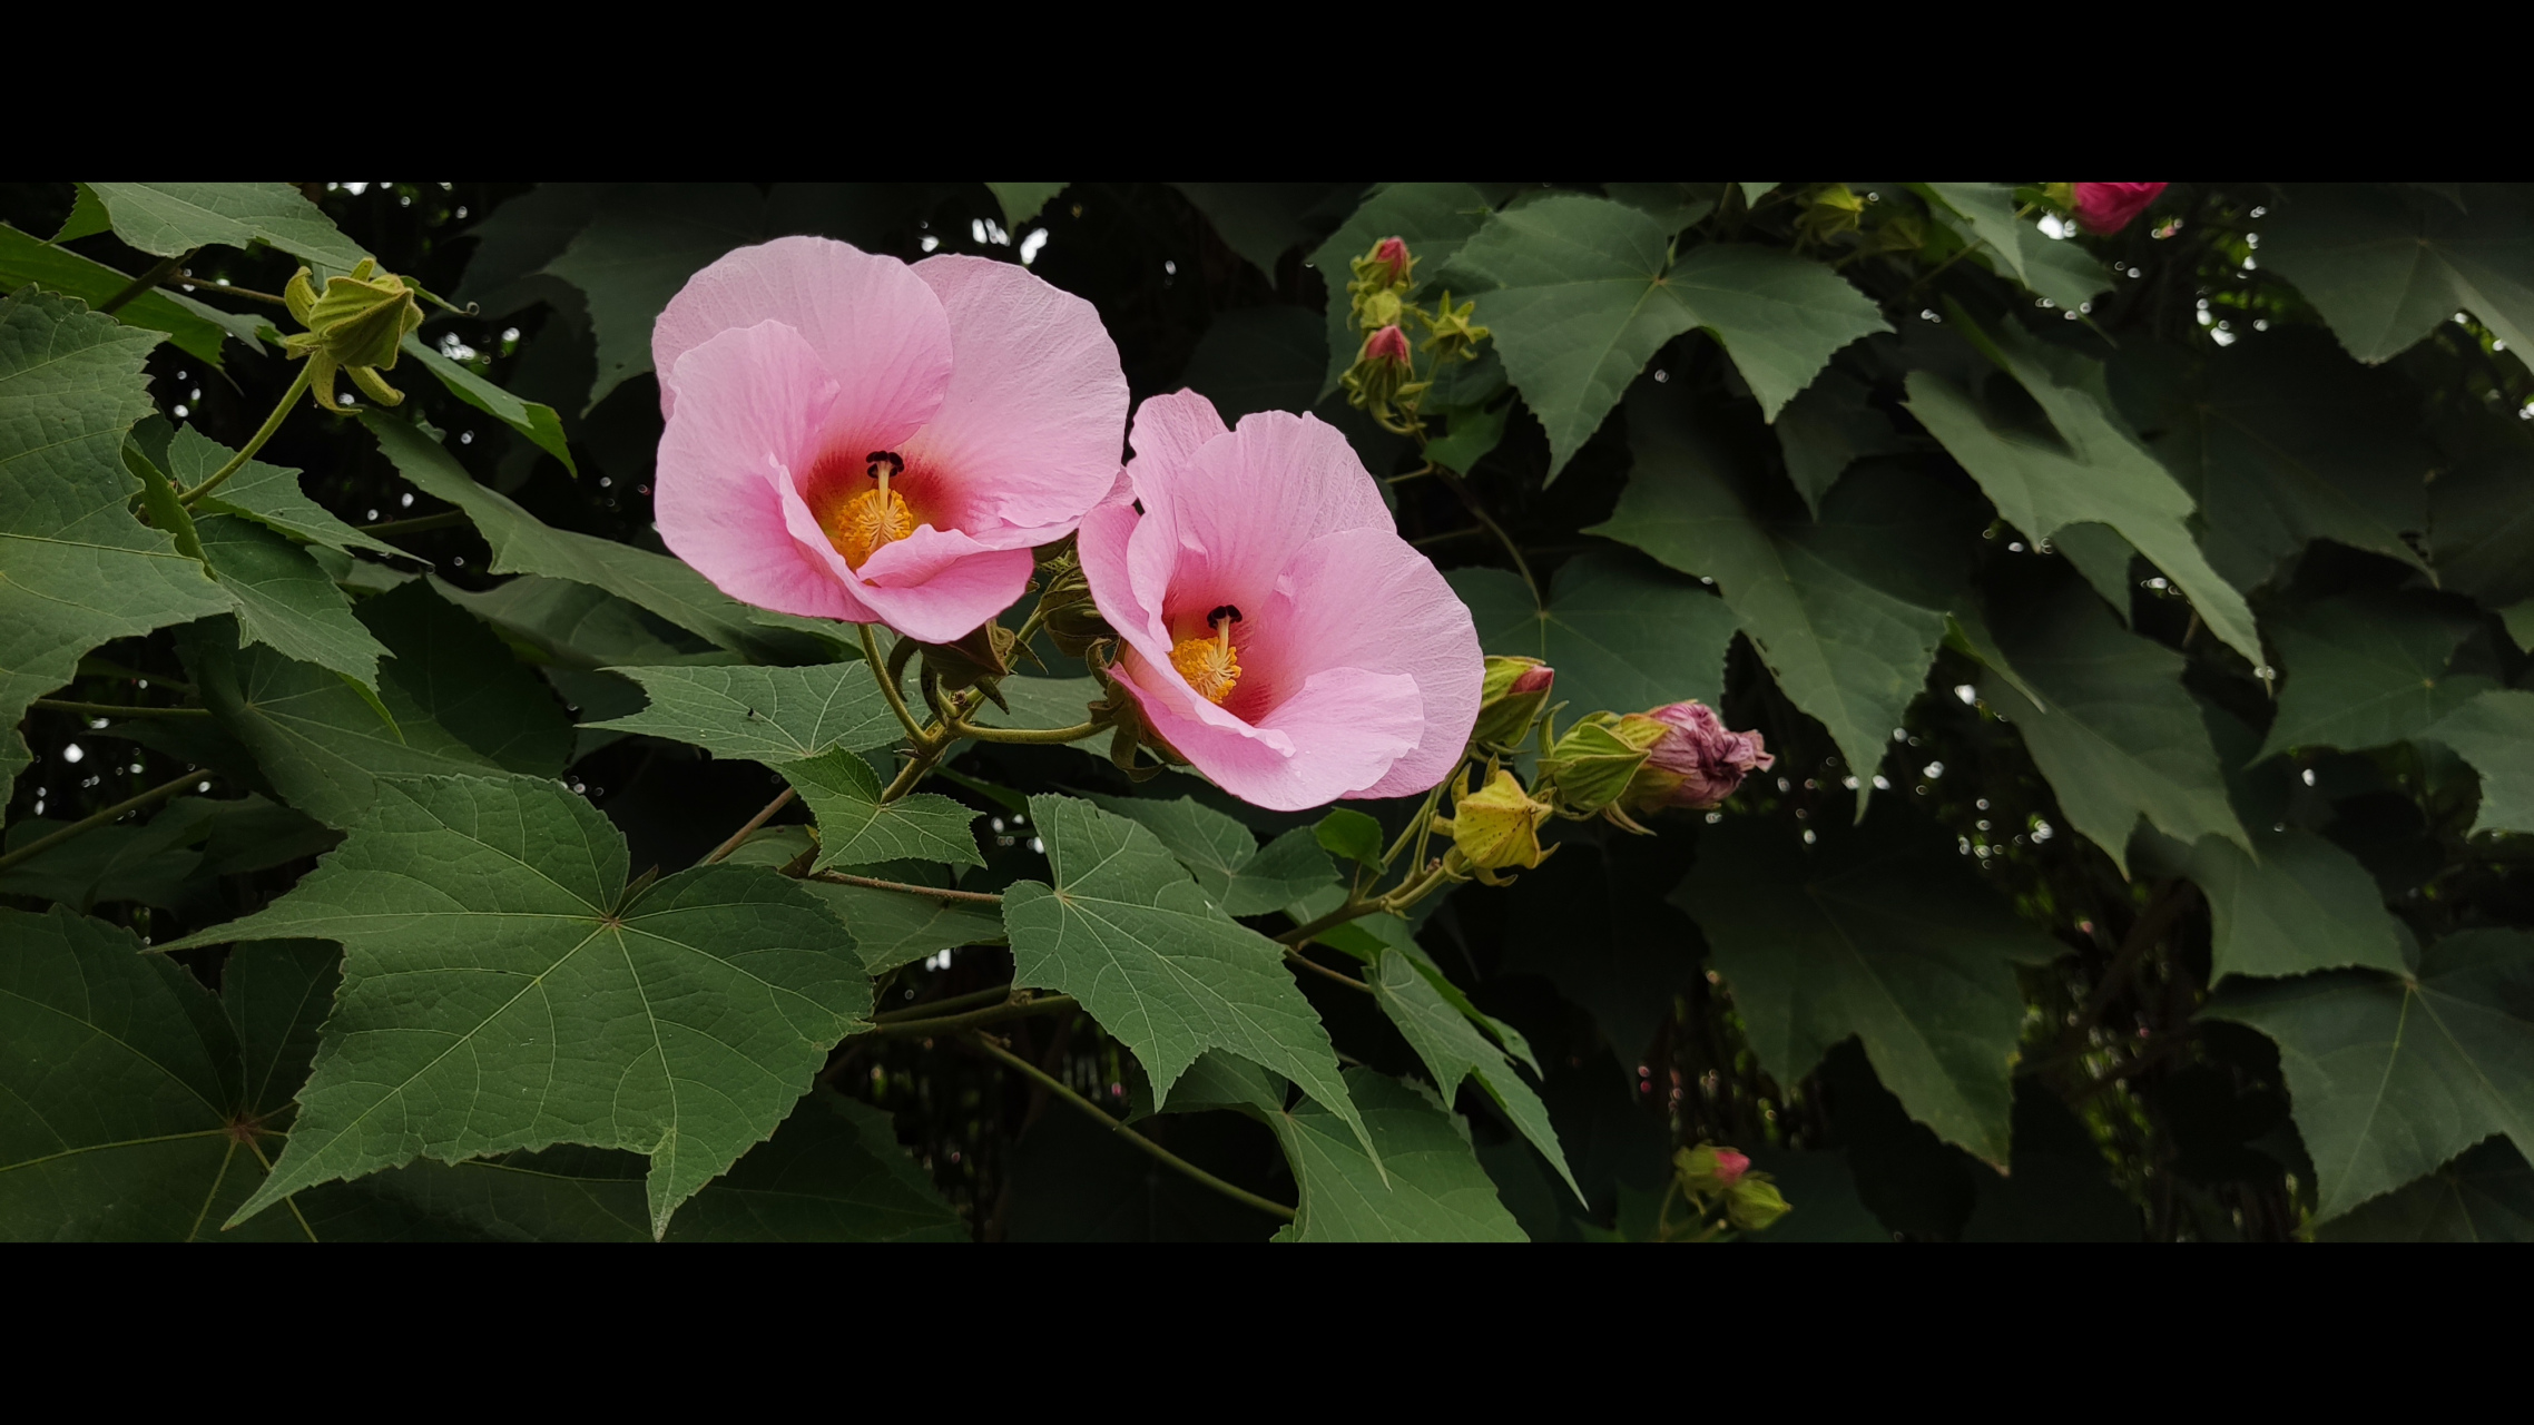
[(1566, 560), (1548, 609), (1500, 568), (1455, 568), (1444, 578), (1470, 606), (1482, 649), (1558, 669), (1553, 697), (1571, 715), (1642, 712), (1688, 697), (1713, 707), (1726, 695), (1733, 609), (1642, 555), (1586, 550)]

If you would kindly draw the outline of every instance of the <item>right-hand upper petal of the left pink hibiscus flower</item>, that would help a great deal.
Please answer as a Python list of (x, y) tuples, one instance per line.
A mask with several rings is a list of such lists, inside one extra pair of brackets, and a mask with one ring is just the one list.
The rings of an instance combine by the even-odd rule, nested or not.
[(1009, 261), (945, 254), (912, 274), (940, 299), (955, 363), (907, 461), (1009, 525), (1072, 532), (1117, 479), (1125, 431), (1125, 370), (1100, 312)]

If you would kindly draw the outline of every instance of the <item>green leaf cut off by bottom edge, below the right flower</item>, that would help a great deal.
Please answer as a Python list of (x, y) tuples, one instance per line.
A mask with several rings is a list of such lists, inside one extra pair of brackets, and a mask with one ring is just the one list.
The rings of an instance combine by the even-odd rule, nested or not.
[[(1449, 1111), (1373, 1070), (1346, 1070), (1346, 1090), (1363, 1106), (1356, 1136), (1318, 1095), (1267, 1116), (1302, 1187), (1277, 1242), (1525, 1240)], [(1378, 1169), (1358, 1146), (1366, 1136)]]

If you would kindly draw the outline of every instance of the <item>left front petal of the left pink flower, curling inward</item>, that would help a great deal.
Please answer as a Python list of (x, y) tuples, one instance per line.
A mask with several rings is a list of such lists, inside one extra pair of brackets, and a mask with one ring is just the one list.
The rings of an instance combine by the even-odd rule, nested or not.
[(742, 603), (849, 619), (849, 596), (786, 525), (786, 502), (801, 502), (793, 467), (816, 456), (839, 401), (818, 352), (783, 322), (760, 322), (687, 350), (661, 390), (687, 393), (654, 474), (669, 550)]

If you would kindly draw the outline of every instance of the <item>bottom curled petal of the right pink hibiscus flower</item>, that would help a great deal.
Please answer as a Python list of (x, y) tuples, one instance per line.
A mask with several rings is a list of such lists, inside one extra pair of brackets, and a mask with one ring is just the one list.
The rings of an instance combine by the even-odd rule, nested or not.
[(1272, 728), (1221, 728), (1181, 715), (1168, 695), (1148, 687), (1153, 667), (1140, 659), (1120, 664), (1120, 674), (1166, 743), (1232, 796), (1270, 811), (1363, 794), (1424, 728), (1417, 680), (1361, 667), (1315, 672), (1277, 707)]

